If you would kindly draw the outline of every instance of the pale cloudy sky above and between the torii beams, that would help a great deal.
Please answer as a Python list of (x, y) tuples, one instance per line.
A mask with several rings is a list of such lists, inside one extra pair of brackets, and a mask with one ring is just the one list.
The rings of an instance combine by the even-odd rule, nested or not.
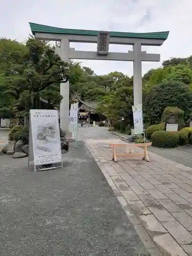
[[(31, 33), (29, 22), (69, 28), (122, 32), (170, 31), (161, 47), (143, 47), (160, 53), (161, 62), (170, 57), (192, 55), (191, 0), (0, 0), (0, 36), (24, 41)], [(76, 50), (96, 50), (96, 45), (74, 44)], [(131, 46), (110, 46), (110, 51), (126, 52)], [(78, 60), (79, 61), (79, 60)], [(143, 74), (161, 66), (143, 62)], [(133, 74), (132, 62), (82, 61), (96, 74), (113, 71)]]

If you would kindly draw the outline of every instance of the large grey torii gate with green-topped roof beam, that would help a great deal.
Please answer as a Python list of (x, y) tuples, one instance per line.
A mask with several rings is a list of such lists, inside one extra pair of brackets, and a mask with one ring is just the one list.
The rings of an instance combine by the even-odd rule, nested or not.
[[(40, 40), (59, 41), (55, 51), (63, 61), (69, 59), (102, 59), (133, 61), (134, 105), (142, 104), (142, 61), (160, 61), (160, 54), (141, 51), (141, 46), (161, 46), (169, 31), (152, 33), (126, 33), (95, 30), (62, 29), (35, 23), (29, 23), (31, 31)], [(97, 52), (75, 51), (70, 42), (97, 43)], [(109, 44), (132, 45), (133, 51), (127, 53), (109, 52)], [(69, 81), (60, 86), (61, 130), (69, 133)]]

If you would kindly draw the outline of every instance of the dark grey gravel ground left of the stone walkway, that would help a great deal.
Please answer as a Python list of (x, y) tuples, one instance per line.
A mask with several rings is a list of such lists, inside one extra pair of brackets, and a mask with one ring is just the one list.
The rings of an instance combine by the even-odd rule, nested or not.
[(34, 173), (0, 155), (1, 256), (150, 255), (84, 142)]

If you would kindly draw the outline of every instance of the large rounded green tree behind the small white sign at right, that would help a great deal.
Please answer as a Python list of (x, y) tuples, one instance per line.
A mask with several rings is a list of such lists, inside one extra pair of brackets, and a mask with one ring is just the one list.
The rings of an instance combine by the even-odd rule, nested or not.
[(185, 121), (192, 113), (192, 92), (190, 87), (180, 81), (163, 81), (153, 87), (144, 101), (145, 122), (160, 123), (162, 113), (167, 106), (175, 106), (184, 111)]

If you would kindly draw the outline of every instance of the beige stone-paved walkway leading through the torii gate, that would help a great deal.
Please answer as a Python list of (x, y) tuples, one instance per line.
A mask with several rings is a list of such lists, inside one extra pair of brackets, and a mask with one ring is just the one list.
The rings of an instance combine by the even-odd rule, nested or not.
[(157, 256), (191, 256), (192, 169), (154, 153), (150, 162), (123, 157), (114, 163), (108, 143), (122, 141), (96, 129), (79, 133), (86, 134), (83, 140), (145, 246)]

